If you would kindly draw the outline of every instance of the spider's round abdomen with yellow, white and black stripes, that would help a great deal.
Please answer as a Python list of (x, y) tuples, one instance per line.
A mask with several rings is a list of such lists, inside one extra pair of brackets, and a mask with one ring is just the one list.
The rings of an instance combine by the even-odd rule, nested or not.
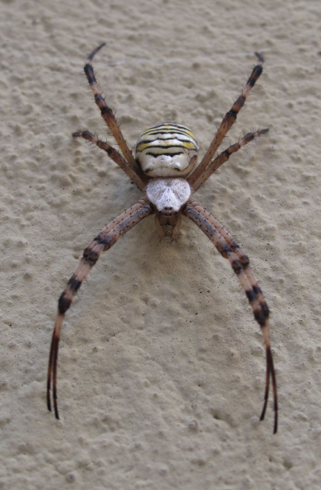
[(161, 123), (139, 138), (136, 159), (150, 177), (181, 177), (193, 169), (198, 148), (195, 136), (186, 126)]

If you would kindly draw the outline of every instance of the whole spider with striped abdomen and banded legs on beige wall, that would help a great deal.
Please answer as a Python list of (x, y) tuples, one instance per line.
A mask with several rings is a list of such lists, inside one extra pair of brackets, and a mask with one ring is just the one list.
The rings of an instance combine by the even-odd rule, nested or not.
[(190, 129), (182, 124), (165, 122), (156, 124), (143, 132), (136, 145), (133, 157), (126, 140), (115, 119), (115, 115), (107, 106), (105, 98), (96, 81), (92, 60), (94, 55), (105, 43), (98, 46), (89, 55), (85, 65), (85, 73), (95, 102), (104, 121), (107, 123), (120, 151), (116, 151), (107, 143), (98, 139), (89, 131), (77, 131), (74, 138), (83, 138), (107, 152), (108, 156), (128, 175), (145, 196), (109, 223), (85, 248), (83, 257), (69, 279), (58, 301), (58, 312), (52, 334), (47, 377), (47, 407), (51, 411), (51, 379), (55, 417), (59, 419), (57, 403), (57, 361), (58, 346), (64, 315), (71, 302), (96, 264), (102, 252), (108, 250), (128, 230), (144, 218), (154, 214), (155, 224), (160, 240), (176, 240), (181, 227), (182, 216), (192, 220), (210, 239), (219, 253), (228, 259), (236, 277), (243, 288), (257, 323), (259, 324), (266, 348), (266, 381), (263, 409), (260, 420), (263, 420), (269, 394), (270, 376), (274, 395), (274, 431), (278, 429), (278, 400), (276, 375), (270, 347), (269, 309), (258, 286), (257, 280), (249, 266), (247, 255), (237, 245), (228, 230), (203, 209), (194, 199), (193, 194), (215, 172), (232, 153), (266, 133), (268, 129), (248, 133), (238, 143), (231, 145), (216, 157), (214, 154), (223, 141), (228, 130), (235, 123), (236, 116), (243, 107), (245, 100), (262, 73), (262, 56), (258, 53), (258, 63), (253, 69), (240, 96), (231, 109), (225, 114), (214, 135), (202, 161), (197, 165), (198, 145)]

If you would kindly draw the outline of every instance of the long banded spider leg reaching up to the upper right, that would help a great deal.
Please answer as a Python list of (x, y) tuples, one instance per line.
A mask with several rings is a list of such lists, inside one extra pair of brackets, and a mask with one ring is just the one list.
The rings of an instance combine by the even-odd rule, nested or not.
[[(252, 70), (250, 78), (246, 82), (245, 87), (243, 88), (241, 95), (237, 98), (237, 100), (232, 105), (231, 109), (225, 114), (222, 122), (218, 126), (218, 129), (214, 135), (213, 141), (207, 150), (205, 156), (199, 165), (195, 168), (195, 170), (189, 176), (189, 183), (193, 186), (193, 182), (198, 179), (198, 177), (205, 171), (207, 166), (211, 163), (212, 158), (214, 157), (215, 151), (220, 146), (225, 137), (226, 133), (233, 126), (236, 121), (236, 116), (239, 113), (240, 109), (243, 107), (247, 96), (249, 95), (250, 90), (255, 85), (257, 78), (262, 73), (262, 64), (264, 62), (262, 56), (258, 53), (255, 53), (258, 58), (258, 64)], [(194, 186), (193, 186), (194, 187)]]

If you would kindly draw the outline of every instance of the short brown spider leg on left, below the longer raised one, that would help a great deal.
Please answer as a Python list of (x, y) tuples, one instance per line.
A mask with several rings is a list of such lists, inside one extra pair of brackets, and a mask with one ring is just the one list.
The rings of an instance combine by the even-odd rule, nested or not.
[(132, 180), (141, 191), (145, 189), (147, 181), (144, 178), (143, 172), (133, 171), (132, 167), (130, 167), (125, 158), (119, 153), (119, 151), (115, 150), (115, 148), (100, 140), (89, 131), (77, 131), (72, 133), (72, 136), (74, 138), (84, 138), (85, 140), (90, 141), (97, 147), (106, 151), (108, 156), (118, 165), (118, 167), (122, 169), (123, 172), (126, 173), (126, 175), (128, 175), (130, 180)]

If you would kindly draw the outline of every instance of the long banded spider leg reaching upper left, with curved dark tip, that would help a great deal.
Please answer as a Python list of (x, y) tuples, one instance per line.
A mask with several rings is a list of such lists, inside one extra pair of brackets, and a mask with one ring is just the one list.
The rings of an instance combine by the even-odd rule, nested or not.
[(103, 46), (105, 46), (106, 43), (102, 43), (100, 46), (95, 48), (88, 56), (88, 59), (86, 61), (86, 65), (84, 67), (84, 71), (87, 77), (87, 80), (89, 82), (90, 88), (94, 94), (95, 102), (98, 105), (102, 118), (104, 119), (105, 123), (109, 127), (110, 131), (112, 132), (113, 137), (115, 138), (118, 146), (120, 147), (121, 152), (123, 153), (124, 157), (128, 161), (129, 166), (132, 168), (133, 171), (137, 171), (138, 165), (134, 157), (132, 156), (132, 153), (130, 149), (128, 148), (128, 145), (126, 143), (126, 140), (120, 130), (120, 127), (116, 121), (116, 118), (114, 116), (114, 113), (110, 109), (110, 107), (107, 106), (107, 103), (105, 99), (102, 96), (101, 90), (98, 86), (98, 83), (96, 81), (94, 71), (92, 68), (92, 60), (97, 51), (99, 51)]

